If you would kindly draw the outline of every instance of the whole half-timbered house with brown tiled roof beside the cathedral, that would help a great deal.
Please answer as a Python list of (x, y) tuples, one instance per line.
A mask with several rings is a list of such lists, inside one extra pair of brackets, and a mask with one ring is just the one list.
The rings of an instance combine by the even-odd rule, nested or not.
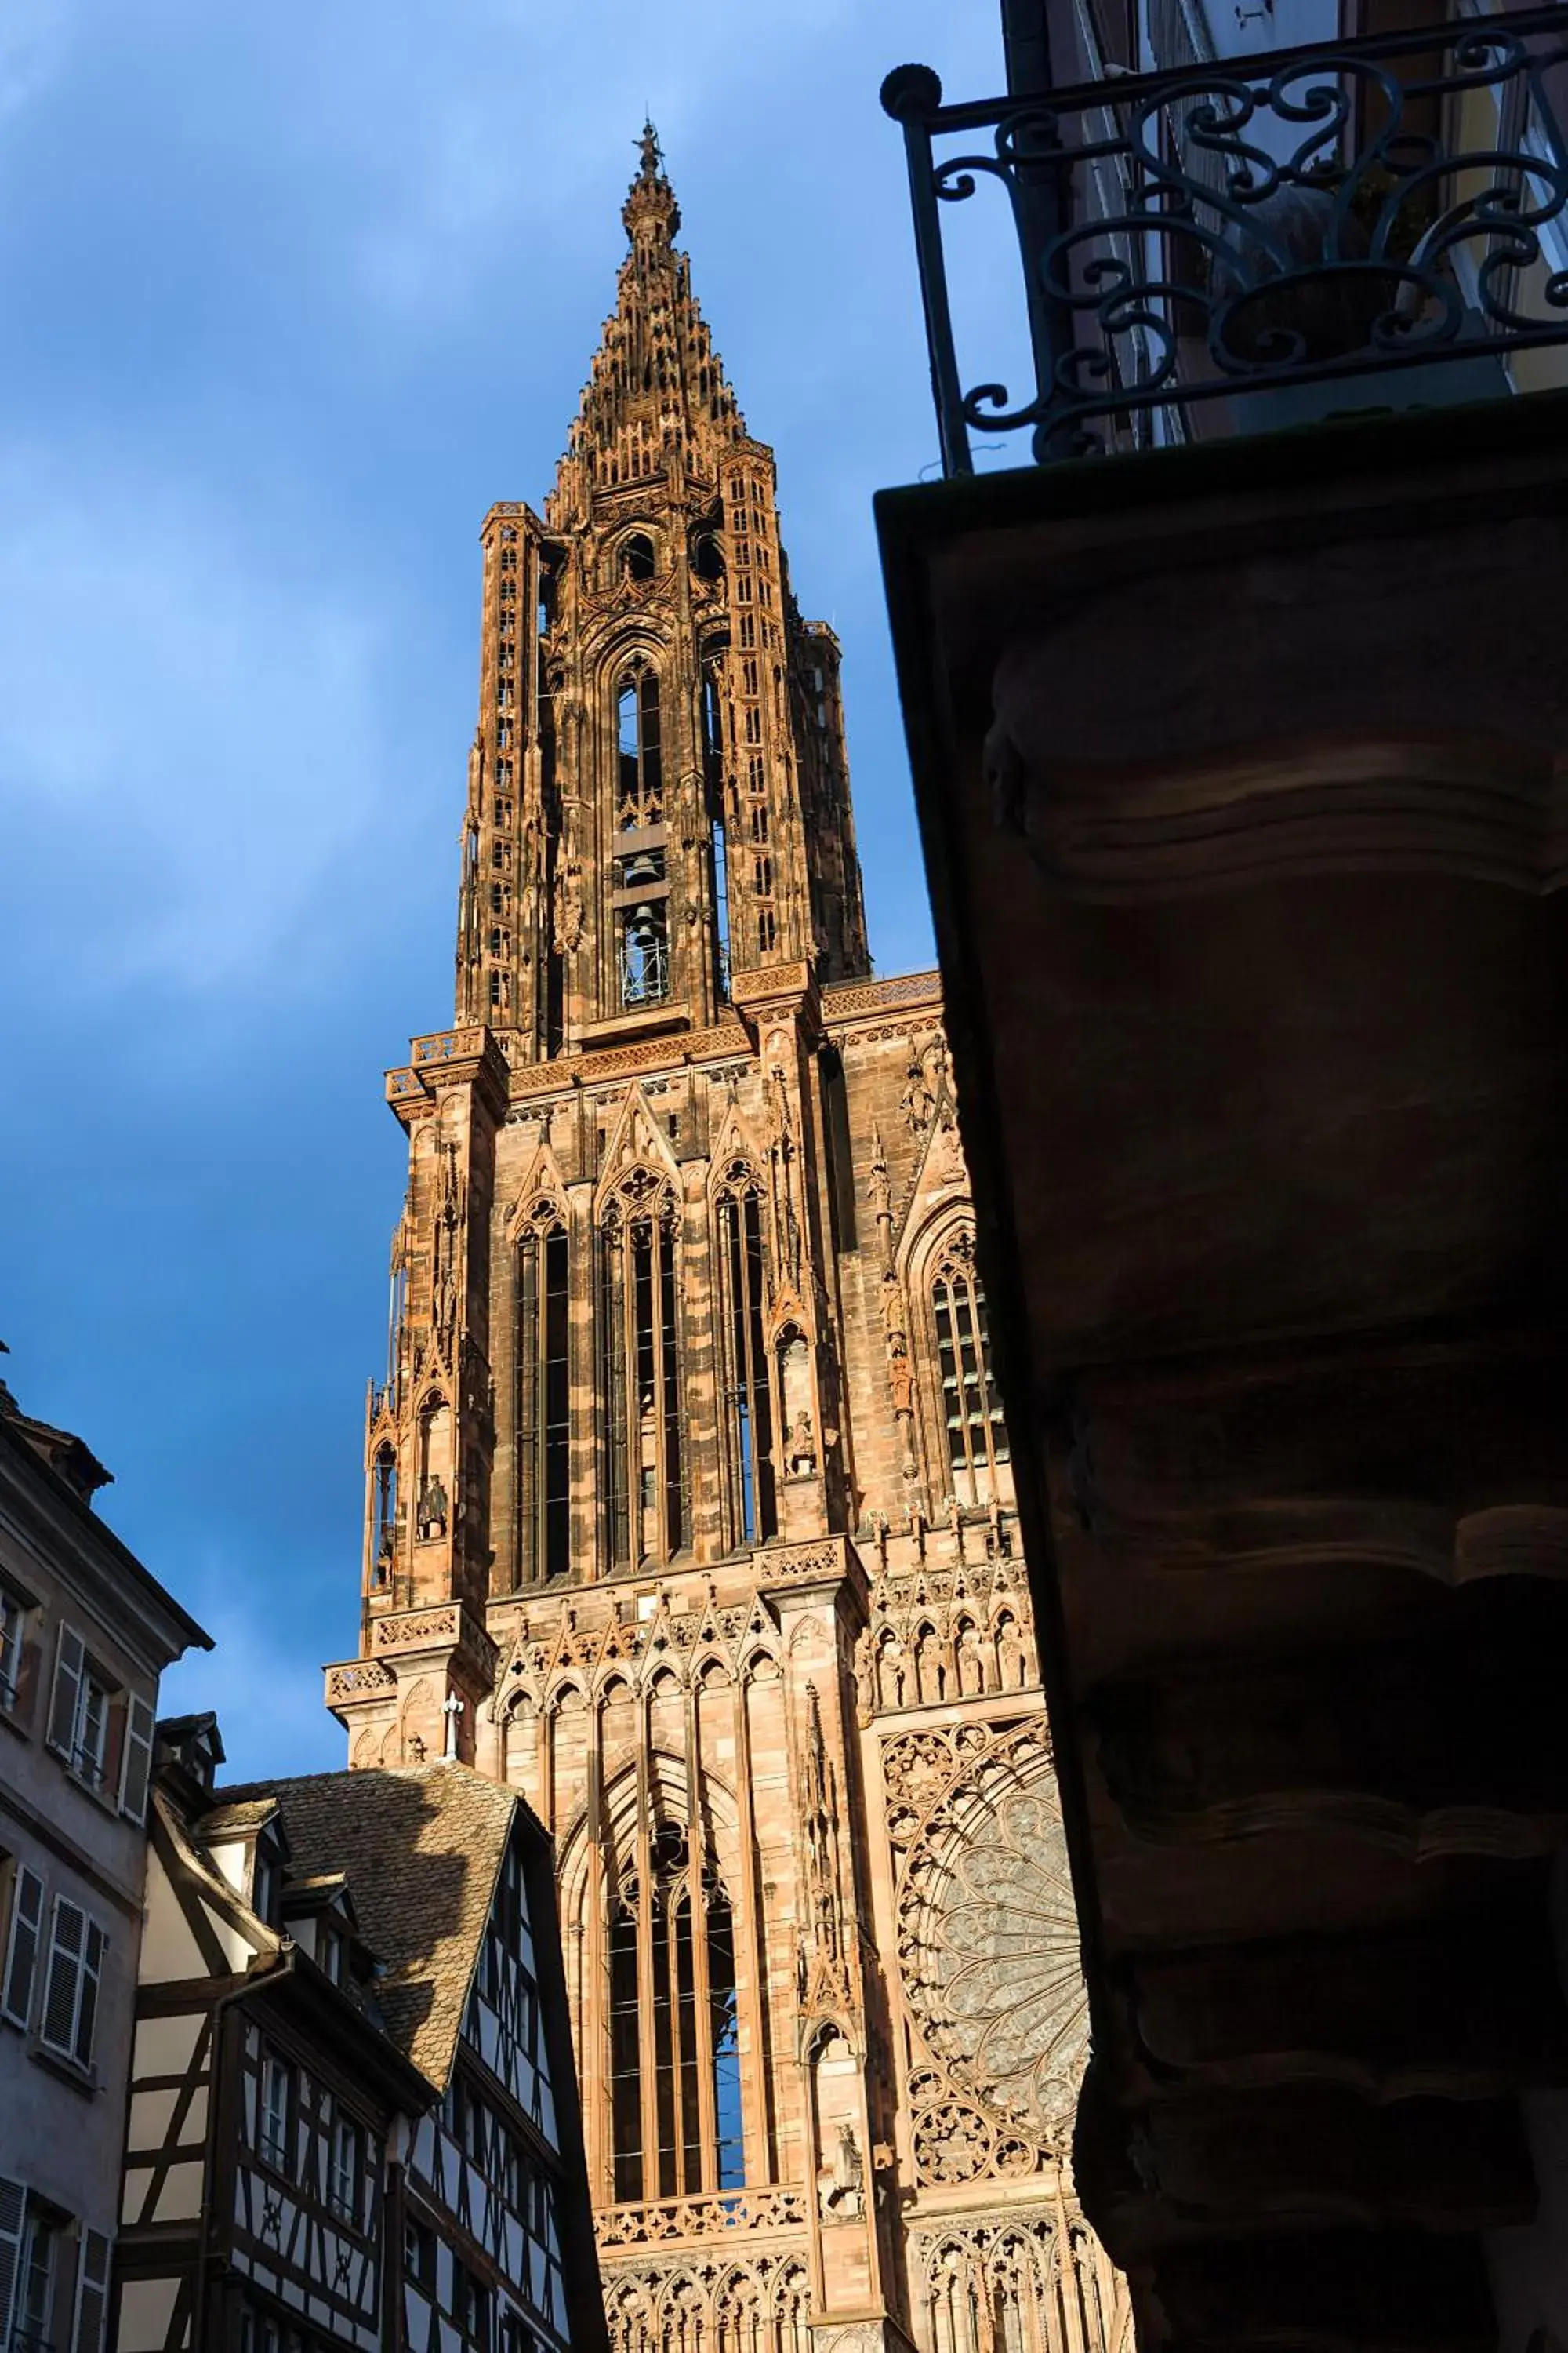
[(160, 1727), (115, 2353), (597, 2344), (538, 1824), (456, 1762), (221, 1755)]

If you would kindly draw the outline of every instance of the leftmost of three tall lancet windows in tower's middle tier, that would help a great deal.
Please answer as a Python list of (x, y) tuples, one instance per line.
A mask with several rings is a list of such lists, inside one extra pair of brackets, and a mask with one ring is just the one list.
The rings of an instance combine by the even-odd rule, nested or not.
[(517, 1240), (517, 1581), (571, 1565), (571, 1292), (564, 1214), (536, 1205)]

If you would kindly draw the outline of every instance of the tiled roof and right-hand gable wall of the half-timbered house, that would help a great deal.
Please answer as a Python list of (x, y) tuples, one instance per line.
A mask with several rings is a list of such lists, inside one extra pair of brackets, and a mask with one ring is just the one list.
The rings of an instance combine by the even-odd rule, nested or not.
[(280, 1784), (299, 1868), (348, 1871), (386, 2031), (433, 2085), (397, 2165), (409, 2353), (576, 2353), (604, 2311), (552, 1854), (456, 1760)]

